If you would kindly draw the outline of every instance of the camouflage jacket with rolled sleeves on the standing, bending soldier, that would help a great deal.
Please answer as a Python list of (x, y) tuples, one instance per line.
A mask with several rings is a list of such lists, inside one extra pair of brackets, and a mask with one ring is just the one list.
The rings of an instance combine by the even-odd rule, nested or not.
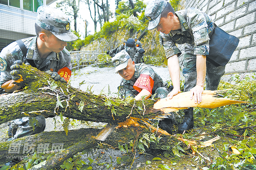
[[(175, 12), (181, 23), (181, 30), (171, 30), (169, 34), (160, 32), (159, 40), (165, 50), (166, 58), (175, 54), (181, 55), (181, 51), (175, 45), (183, 44), (185, 53), (193, 55), (208, 55), (209, 40), (213, 34), (215, 24), (211, 16), (196, 8), (187, 9), (187, 21), (185, 20), (185, 10)], [(185, 32), (188, 31), (185, 40)]]

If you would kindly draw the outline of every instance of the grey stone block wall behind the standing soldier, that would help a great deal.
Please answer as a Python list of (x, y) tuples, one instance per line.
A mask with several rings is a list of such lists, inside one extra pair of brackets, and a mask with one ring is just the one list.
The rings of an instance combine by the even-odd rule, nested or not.
[(239, 38), (226, 74), (256, 71), (255, 0), (181, 0), (180, 5), (182, 9), (194, 7), (211, 15), (221, 29)]

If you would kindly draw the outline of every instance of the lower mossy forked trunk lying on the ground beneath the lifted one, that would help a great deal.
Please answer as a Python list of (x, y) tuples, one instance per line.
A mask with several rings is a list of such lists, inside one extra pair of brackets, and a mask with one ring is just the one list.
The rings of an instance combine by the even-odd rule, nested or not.
[[(79, 130), (70, 130), (66, 135), (65, 131), (41, 132), (39, 134), (25, 136), (16, 140), (0, 143), (0, 164), (6, 163), (15, 158), (21, 158), (28, 154), (33, 155), (34, 152), (43, 153), (48, 151), (57, 151), (56, 155), (47, 160), (44, 165), (37, 167), (40, 169), (52, 169), (61, 165), (65, 160), (72, 157), (78, 152), (85, 149), (92, 149), (98, 146), (98, 140), (95, 136), (101, 129), (87, 128)], [(111, 131), (109, 136), (103, 142), (111, 148), (117, 148), (118, 144), (123, 145), (134, 140), (134, 136), (140, 133), (150, 133), (148, 128), (130, 127), (118, 128)], [(161, 140), (161, 144), (165, 144), (165, 140)], [(152, 148), (154, 149), (154, 148)]]

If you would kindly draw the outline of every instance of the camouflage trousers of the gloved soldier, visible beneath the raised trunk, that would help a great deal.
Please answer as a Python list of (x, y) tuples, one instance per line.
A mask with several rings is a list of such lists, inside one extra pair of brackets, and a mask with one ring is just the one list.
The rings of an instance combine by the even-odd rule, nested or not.
[(42, 115), (35, 117), (36, 121), (33, 123), (33, 127), (30, 125), (29, 117), (23, 117), (21, 119), (12, 120), (9, 123), (8, 135), (9, 138), (7, 141), (11, 141), (20, 137), (40, 133), (45, 129), (45, 118)]

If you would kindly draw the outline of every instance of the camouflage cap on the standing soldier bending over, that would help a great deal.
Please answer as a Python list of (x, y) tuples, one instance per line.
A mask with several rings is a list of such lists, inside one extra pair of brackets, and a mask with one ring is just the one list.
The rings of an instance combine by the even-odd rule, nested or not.
[(148, 3), (145, 9), (145, 16), (149, 20), (148, 30), (153, 30), (157, 27), (161, 18), (161, 13), (166, 5), (167, 2), (164, 0), (152, 0)]

